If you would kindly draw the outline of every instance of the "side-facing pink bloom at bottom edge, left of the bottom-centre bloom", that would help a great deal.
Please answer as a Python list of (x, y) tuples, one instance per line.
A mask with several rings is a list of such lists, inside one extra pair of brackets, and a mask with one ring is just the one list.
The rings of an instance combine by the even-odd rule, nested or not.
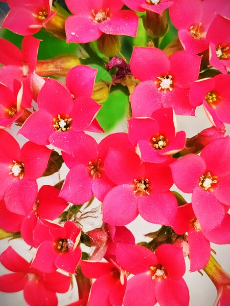
[(88, 305), (122, 305), (127, 279), (117, 264), (81, 261), (81, 269), (86, 277), (96, 279), (91, 287)]

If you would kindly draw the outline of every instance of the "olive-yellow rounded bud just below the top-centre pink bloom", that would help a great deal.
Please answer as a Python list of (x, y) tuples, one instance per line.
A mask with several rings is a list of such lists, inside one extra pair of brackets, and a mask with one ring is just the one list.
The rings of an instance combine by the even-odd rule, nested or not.
[(120, 40), (117, 35), (102, 33), (97, 40), (97, 46), (102, 54), (113, 57), (120, 51)]

